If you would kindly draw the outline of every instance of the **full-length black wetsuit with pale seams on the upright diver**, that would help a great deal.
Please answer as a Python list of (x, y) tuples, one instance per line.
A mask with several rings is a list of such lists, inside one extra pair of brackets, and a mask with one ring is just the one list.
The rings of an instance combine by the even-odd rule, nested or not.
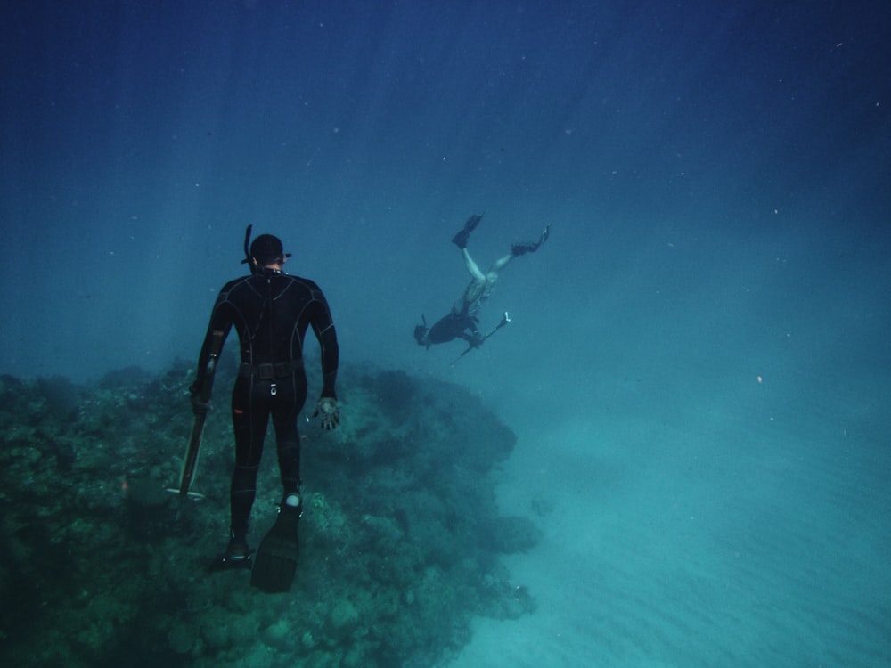
[[(312, 327), (322, 350), (322, 396), (337, 398), (338, 343), (331, 311), (313, 282), (266, 268), (262, 274), (229, 281), (220, 290), (198, 361), (200, 387), (208, 367), (214, 332), (223, 341), (235, 328), (241, 366), (232, 393), (235, 469), (231, 488), (233, 538), (248, 532), (257, 490), (257, 468), (266, 426), (272, 416), (284, 493), (300, 485), (298, 414), (307, 398), (303, 341)], [(217, 336), (219, 336), (217, 334)]]

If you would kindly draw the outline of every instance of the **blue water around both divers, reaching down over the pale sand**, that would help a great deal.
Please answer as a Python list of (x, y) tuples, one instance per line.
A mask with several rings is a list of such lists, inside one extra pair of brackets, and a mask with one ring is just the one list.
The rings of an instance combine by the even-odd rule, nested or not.
[[(891, 664), (891, 7), (724, 5), (4, 9), (0, 372), (191, 359), (254, 224), (519, 436), (539, 606), (455, 668)], [(484, 211), (552, 236), (451, 366)]]

